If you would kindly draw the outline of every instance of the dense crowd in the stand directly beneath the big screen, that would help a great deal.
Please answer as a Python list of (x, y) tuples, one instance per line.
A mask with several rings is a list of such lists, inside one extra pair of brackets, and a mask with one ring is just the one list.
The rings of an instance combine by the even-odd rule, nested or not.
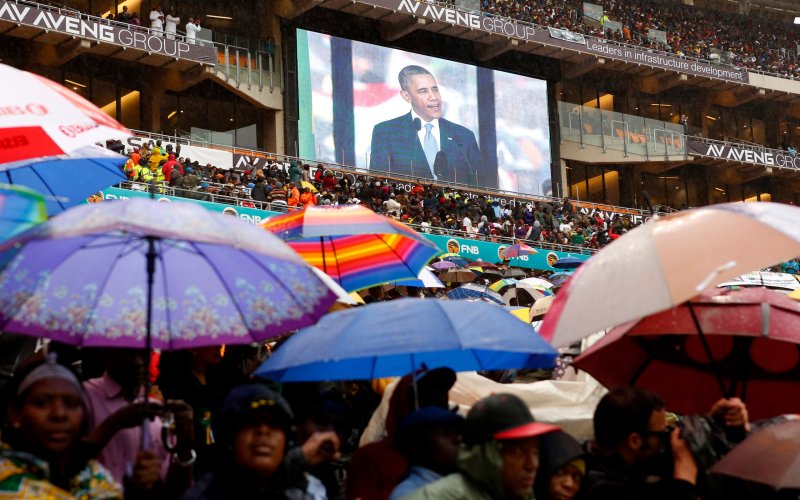
[(361, 204), (431, 234), (597, 249), (638, 225), (628, 216), (582, 213), (567, 198), (501, 204), (487, 194), (422, 183), (406, 191), (384, 178), (337, 177), (323, 165), (297, 162), (224, 170), (180, 157), (170, 145), (162, 151), (160, 143), (130, 156), (125, 170), (132, 181), (166, 184), (176, 196), (251, 208)]

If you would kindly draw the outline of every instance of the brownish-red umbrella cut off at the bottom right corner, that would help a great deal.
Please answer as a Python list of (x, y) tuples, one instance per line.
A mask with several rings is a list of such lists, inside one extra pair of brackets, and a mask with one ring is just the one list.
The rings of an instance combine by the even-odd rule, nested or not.
[(767, 484), (800, 488), (800, 420), (761, 429), (739, 443), (711, 472)]

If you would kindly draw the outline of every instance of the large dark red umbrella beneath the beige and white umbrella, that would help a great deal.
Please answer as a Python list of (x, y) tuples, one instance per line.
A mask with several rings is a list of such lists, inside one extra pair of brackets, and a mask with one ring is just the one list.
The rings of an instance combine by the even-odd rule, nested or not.
[(573, 364), (606, 387), (650, 389), (678, 413), (738, 396), (759, 419), (800, 410), (787, 396), (800, 391), (799, 346), (800, 303), (764, 288), (714, 289), (612, 329)]

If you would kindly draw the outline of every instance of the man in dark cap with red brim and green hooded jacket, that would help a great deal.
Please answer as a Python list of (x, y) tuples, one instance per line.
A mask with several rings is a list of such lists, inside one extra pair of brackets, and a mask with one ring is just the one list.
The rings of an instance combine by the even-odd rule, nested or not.
[(513, 394), (493, 394), (467, 414), (458, 472), (404, 497), (426, 499), (532, 499), (539, 439), (559, 430), (536, 422)]

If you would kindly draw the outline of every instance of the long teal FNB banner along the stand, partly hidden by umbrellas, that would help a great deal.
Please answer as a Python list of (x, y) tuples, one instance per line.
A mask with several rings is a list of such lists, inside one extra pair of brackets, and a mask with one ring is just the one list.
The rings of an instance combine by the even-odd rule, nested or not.
[[(132, 191), (129, 189), (108, 188), (103, 190), (104, 200), (127, 200), (130, 198), (149, 198), (150, 194), (145, 191)], [(211, 203), (208, 201), (192, 200), (189, 198), (180, 198), (176, 196), (156, 195), (156, 200), (160, 202), (191, 202), (199, 203), (213, 212), (222, 212), (226, 215), (238, 217), (243, 221), (252, 224), (261, 224), (267, 218), (273, 215), (279, 215), (281, 212), (272, 212), (269, 210), (259, 210), (256, 208), (239, 207), (234, 205), (225, 205), (222, 203)], [(469, 260), (482, 260), (486, 262), (501, 262), (499, 252), (501, 249), (506, 248), (508, 244), (493, 243), (491, 241), (471, 240), (467, 238), (456, 238), (453, 236), (442, 236), (437, 234), (424, 234), (426, 238), (431, 240), (439, 247), (442, 252), (457, 253)], [(571, 254), (567, 252), (557, 252), (555, 250), (538, 249), (539, 253), (535, 255), (524, 255), (511, 259), (512, 266), (524, 267), (528, 269), (541, 269), (545, 271), (557, 271), (552, 266), (558, 259), (565, 257), (575, 257), (578, 259), (586, 260), (590, 256), (584, 254)]]

